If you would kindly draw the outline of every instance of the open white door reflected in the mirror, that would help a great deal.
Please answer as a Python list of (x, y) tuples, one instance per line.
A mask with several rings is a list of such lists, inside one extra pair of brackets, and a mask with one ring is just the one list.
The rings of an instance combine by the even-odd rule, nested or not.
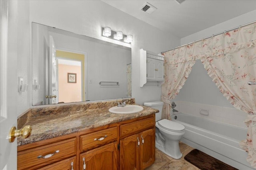
[(58, 103), (58, 96), (57, 96), (57, 68), (56, 68), (56, 48), (54, 44), (54, 40), (50, 35), (50, 59), (49, 59), (49, 80), (50, 80), (50, 88), (49, 88), (49, 104), (56, 104)]

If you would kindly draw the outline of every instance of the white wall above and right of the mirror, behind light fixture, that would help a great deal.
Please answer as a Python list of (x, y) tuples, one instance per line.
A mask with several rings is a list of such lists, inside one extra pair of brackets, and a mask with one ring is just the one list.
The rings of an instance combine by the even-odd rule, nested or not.
[[(30, 21), (72, 31), (81, 35), (118, 43), (132, 48), (132, 97), (137, 104), (160, 100), (161, 88), (140, 88), (140, 49), (160, 53), (180, 45), (180, 39), (168, 35), (102, 1), (30, 1)], [(131, 45), (101, 36), (101, 27), (132, 34)], [(150, 35), (150, 36), (149, 36)]]

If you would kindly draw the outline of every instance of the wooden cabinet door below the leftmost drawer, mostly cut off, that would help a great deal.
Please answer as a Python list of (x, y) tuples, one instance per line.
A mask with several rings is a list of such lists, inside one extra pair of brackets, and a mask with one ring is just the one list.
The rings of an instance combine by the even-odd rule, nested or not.
[(76, 156), (61, 160), (38, 170), (76, 170)]

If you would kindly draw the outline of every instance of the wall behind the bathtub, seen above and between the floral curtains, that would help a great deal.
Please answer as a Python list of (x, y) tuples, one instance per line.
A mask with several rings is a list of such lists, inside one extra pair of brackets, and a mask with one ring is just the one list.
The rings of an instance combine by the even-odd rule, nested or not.
[[(256, 10), (184, 37), (181, 39), (181, 45), (239, 27), (239, 25), (255, 20)], [(245, 127), (243, 121), (246, 113), (238, 109), (234, 111), (232, 104), (219, 92), (215, 83), (212, 82), (212, 78), (208, 76), (201, 61), (196, 61), (188, 79), (174, 101), (182, 104), (179, 106), (179, 111), (181, 112), (202, 117), (203, 115), (199, 114), (200, 109), (207, 109), (209, 110), (209, 116), (203, 116), (204, 118)]]

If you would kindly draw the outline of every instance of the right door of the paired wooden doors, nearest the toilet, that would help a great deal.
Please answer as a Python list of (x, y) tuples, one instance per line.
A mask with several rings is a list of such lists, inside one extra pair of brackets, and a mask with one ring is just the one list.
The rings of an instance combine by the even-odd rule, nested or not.
[(145, 169), (155, 162), (155, 130), (148, 129), (140, 133), (140, 167)]

